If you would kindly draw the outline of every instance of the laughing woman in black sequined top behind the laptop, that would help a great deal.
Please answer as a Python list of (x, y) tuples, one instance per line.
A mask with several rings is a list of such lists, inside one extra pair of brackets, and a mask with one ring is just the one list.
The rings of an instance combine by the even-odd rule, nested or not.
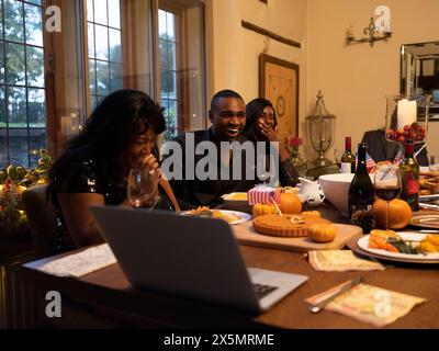
[[(126, 180), (132, 168), (148, 167), (160, 174), (156, 136), (165, 127), (162, 107), (142, 91), (115, 91), (94, 109), (49, 171), (48, 194), (59, 217), (57, 251), (103, 241), (89, 206), (130, 205)], [(160, 180), (160, 185), (171, 207), (179, 210), (169, 184)]]

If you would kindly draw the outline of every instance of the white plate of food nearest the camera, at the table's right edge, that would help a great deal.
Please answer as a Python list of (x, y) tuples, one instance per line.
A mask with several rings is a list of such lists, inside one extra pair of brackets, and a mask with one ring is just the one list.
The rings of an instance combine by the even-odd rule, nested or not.
[[(426, 237), (426, 234), (421, 233), (414, 233), (414, 231), (398, 231), (397, 235), (403, 239), (403, 240), (423, 240)], [(363, 236), (360, 240), (358, 240), (358, 246), (360, 249), (375, 253), (379, 256), (383, 256), (391, 259), (403, 259), (403, 260), (412, 260), (412, 261), (432, 261), (432, 260), (438, 260), (439, 261), (439, 253), (418, 253), (418, 254), (409, 254), (409, 253), (399, 253), (399, 252), (391, 252), (386, 250), (381, 250), (381, 249), (371, 249), (369, 247), (369, 237), (370, 235)]]

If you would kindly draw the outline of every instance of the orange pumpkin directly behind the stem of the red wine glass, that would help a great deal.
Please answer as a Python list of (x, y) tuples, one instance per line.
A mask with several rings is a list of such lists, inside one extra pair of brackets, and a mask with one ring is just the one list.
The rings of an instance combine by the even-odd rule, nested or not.
[[(372, 205), (372, 214), (376, 224), (381, 228), (385, 228), (385, 201), (376, 200)], [(412, 208), (403, 200), (394, 199), (389, 203), (387, 228), (402, 229), (405, 228), (412, 218)]]

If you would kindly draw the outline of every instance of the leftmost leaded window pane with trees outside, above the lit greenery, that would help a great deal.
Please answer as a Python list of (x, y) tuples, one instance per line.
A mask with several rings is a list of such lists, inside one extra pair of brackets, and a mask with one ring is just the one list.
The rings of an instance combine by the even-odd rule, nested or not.
[(0, 169), (47, 147), (42, 0), (0, 1)]

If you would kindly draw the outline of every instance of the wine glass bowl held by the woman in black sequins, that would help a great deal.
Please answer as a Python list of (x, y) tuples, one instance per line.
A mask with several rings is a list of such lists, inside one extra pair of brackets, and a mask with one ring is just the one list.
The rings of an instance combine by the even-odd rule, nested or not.
[(158, 202), (158, 177), (155, 170), (133, 168), (126, 186), (127, 197), (135, 208), (154, 208)]

